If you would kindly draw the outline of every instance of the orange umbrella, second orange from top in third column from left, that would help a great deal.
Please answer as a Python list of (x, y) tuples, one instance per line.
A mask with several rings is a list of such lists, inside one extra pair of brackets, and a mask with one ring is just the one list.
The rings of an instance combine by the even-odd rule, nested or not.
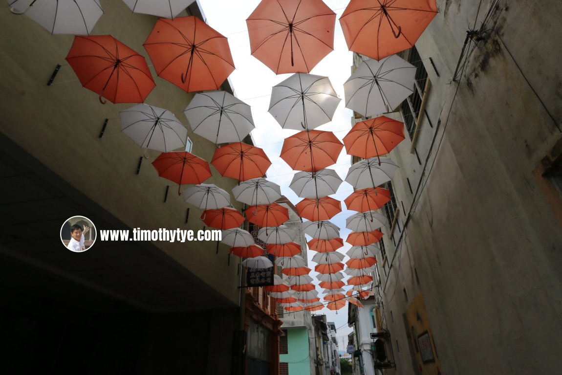
[(293, 170), (319, 171), (336, 164), (343, 144), (332, 132), (310, 130), (285, 138), (281, 159)]

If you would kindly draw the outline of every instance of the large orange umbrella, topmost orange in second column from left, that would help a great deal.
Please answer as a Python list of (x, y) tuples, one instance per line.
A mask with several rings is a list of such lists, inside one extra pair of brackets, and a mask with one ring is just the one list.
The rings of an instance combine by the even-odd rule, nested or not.
[(217, 90), (234, 70), (226, 38), (195, 16), (157, 20), (143, 46), (158, 76), (187, 92)]

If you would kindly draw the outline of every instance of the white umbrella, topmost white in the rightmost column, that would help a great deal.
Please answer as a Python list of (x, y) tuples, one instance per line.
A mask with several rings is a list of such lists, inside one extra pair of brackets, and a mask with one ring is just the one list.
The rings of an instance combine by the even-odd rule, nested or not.
[(346, 107), (365, 117), (392, 112), (414, 92), (416, 67), (392, 55), (380, 61), (363, 61), (343, 91)]

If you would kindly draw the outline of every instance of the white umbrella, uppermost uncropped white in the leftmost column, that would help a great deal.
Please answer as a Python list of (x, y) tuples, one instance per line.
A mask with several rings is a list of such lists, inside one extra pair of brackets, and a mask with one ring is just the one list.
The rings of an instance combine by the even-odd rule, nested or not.
[(119, 112), (121, 132), (129, 135), (142, 148), (170, 152), (185, 148), (187, 129), (163, 108), (138, 104)]

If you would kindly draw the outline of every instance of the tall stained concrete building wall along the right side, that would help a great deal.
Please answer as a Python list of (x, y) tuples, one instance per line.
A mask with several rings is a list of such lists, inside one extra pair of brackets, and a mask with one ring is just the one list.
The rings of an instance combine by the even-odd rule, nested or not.
[(490, 2), (477, 16), (478, 5), (438, 1), (416, 43), (432, 84), (414, 145), (420, 161), (407, 135), (390, 154), (401, 166), (400, 229), (394, 241), (383, 231), (391, 264), (380, 273), (400, 374), (415, 373), (402, 314), (419, 292), (441, 373), (559, 372), (562, 228), (533, 170), (561, 138), (562, 5), (500, 1), (492, 31), (451, 82), (467, 26), (481, 25)]

